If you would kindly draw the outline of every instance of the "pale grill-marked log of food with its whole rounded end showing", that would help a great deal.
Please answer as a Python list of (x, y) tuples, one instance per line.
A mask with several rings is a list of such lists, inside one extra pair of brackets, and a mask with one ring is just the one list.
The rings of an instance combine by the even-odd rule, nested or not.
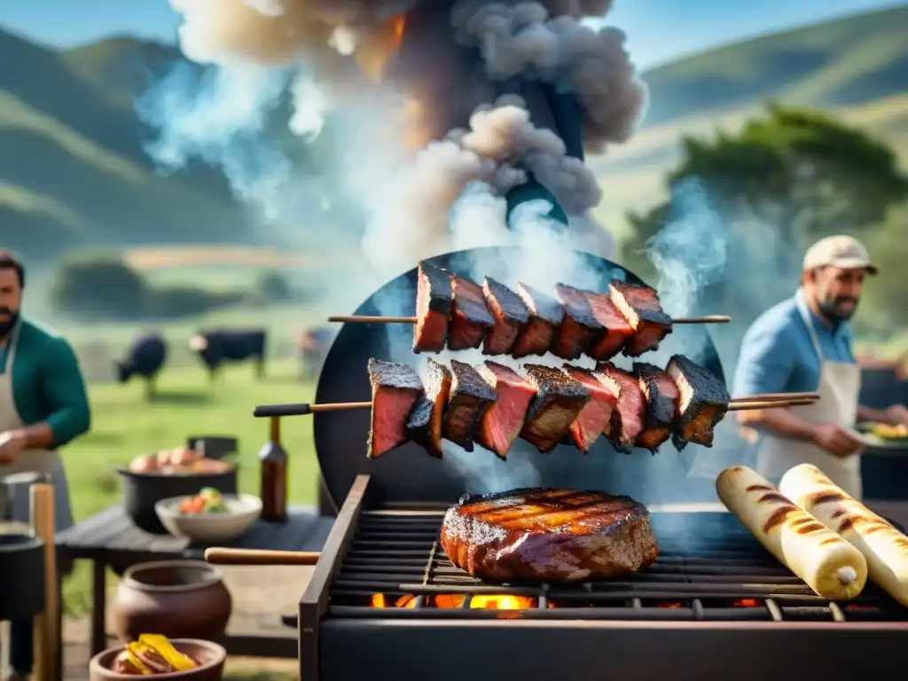
[(755, 538), (819, 596), (848, 600), (861, 593), (867, 583), (862, 553), (755, 470), (723, 470), (716, 492)]

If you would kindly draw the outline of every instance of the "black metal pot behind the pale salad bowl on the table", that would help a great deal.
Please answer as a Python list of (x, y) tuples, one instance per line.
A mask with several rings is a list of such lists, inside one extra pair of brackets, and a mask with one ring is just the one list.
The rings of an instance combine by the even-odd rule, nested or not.
[(123, 507), (133, 522), (146, 532), (165, 535), (154, 504), (161, 499), (198, 494), (203, 487), (212, 487), (224, 494), (236, 494), (236, 467), (223, 473), (199, 475), (164, 475), (162, 473), (133, 473), (118, 469), (123, 478)]

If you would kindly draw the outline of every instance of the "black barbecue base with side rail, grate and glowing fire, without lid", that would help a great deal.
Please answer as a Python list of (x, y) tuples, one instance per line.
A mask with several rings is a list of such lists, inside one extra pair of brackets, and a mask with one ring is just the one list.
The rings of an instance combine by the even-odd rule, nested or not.
[(653, 513), (660, 555), (637, 575), (498, 586), (451, 565), (443, 509), (369, 509), (368, 481), (301, 601), (301, 678), (873, 677), (908, 640), (908, 609), (871, 585), (816, 596), (730, 514)]

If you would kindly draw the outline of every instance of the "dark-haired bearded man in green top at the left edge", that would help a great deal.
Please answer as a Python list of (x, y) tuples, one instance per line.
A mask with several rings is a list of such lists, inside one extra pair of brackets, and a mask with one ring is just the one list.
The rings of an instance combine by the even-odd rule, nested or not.
[[(13, 519), (29, 521), (27, 474), (38, 473), (54, 484), (60, 530), (73, 518), (56, 449), (88, 430), (91, 416), (69, 343), (20, 315), (24, 286), (22, 263), (0, 251), (0, 516), (12, 511)], [(15, 484), (17, 478), (25, 481)], [(11, 678), (25, 678), (33, 663), (32, 621), (13, 622), (11, 638)]]

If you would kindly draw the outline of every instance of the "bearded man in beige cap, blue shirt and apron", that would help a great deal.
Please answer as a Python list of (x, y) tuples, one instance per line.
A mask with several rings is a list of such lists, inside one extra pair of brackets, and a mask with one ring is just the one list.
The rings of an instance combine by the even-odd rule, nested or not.
[(735, 397), (764, 392), (818, 392), (810, 406), (738, 412), (757, 429), (757, 470), (778, 481), (785, 471), (812, 463), (852, 497), (862, 498), (857, 421), (908, 424), (908, 410), (872, 410), (858, 404), (861, 369), (848, 328), (864, 277), (877, 274), (864, 244), (850, 236), (814, 243), (804, 255), (801, 286), (765, 311), (745, 333), (735, 370)]

